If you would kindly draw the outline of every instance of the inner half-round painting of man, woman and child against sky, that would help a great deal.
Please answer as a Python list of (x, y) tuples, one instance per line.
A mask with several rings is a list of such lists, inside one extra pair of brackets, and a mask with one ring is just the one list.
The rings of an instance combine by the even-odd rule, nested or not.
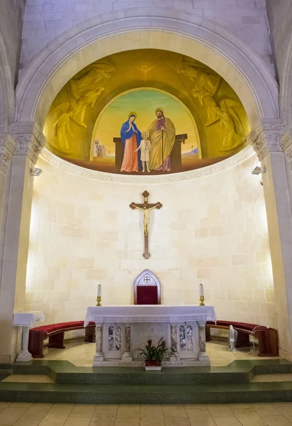
[(115, 99), (101, 112), (94, 135), (91, 161), (102, 171), (174, 173), (183, 170), (187, 154), (192, 160), (199, 156), (198, 131), (189, 111), (153, 89)]

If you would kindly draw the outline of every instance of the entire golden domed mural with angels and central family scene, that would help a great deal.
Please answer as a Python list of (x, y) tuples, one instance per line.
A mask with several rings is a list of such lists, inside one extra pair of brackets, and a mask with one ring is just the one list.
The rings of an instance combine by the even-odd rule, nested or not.
[(45, 122), (47, 148), (108, 173), (178, 173), (246, 146), (240, 99), (201, 62), (164, 50), (116, 53), (80, 71)]

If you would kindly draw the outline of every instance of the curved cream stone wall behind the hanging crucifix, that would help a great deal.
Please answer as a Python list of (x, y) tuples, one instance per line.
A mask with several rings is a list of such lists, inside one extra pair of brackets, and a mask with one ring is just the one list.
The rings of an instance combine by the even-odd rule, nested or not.
[[(40, 158), (26, 308), (43, 310), (49, 323), (83, 320), (97, 280), (105, 305), (129, 304), (133, 281), (149, 268), (161, 280), (162, 303), (196, 303), (201, 279), (218, 318), (276, 327), (263, 187), (250, 173), (256, 164), (252, 156), (201, 178), (131, 184), (84, 178)], [(152, 212), (147, 261), (142, 214), (129, 207), (144, 190), (163, 204)]]

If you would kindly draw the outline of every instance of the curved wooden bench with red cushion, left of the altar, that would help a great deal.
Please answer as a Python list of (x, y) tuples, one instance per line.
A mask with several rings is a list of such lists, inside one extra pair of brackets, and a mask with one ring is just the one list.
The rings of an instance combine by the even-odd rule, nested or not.
[[(44, 340), (49, 338), (49, 348), (64, 349), (64, 332), (72, 332), (84, 328), (83, 321), (61, 322), (35, 327), (29, 331), (28, 351), (33, 358), (43, 358)], [(85, 328), (85, 342), (95, 342), (95, 324), (89, 322)]]

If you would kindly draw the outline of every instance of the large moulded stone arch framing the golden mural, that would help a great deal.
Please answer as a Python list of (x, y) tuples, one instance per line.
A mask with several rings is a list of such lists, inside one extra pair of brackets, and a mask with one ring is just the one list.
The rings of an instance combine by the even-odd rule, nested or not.
[(157, 45), (218, 72), (237, 92), (252, 126), (263, 117), (279, 116), (274, 77), (236, 35), (191, 13), (133, 8), (82, 21), (49, 43), (18, 84), (16, 120), (43, 128), (53, 99), (79, 70), (112, 53)]

